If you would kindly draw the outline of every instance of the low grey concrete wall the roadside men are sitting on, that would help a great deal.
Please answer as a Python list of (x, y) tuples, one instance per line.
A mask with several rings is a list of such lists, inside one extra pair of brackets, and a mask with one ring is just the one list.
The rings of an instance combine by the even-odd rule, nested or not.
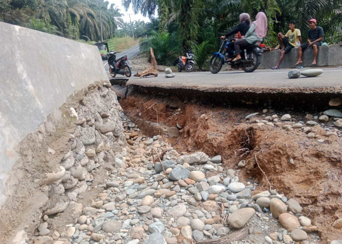
[[(261, 55), (261, 63), (259, 68), (269, 69), (278, 64), (280, 50), (265, 52)], [(311, 66), (314, 60), (312, 48), (306, 48), (303, 51), (302, 63), (300, 66)], [(298, 49), (293, 48), (287, 55), (284, 56), (280, 64), (280, 68), (293, 68), (298, 61)], [(330, 45), (318, 47), (317, 65), (318, 66), (336, 66), (342, 64), (342, 46)]]

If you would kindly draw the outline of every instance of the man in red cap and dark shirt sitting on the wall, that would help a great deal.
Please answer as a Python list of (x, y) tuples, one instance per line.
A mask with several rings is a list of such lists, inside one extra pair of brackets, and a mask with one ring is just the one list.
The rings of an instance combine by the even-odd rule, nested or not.
[(308, 46), (312, 47), (314, 51), (314, 61), (311, 64), (315, 65), (317, 63), (318, 46), (321, 46), (323, 42), (323, 28), (320, 26), (316, 26), (317, 21), (315, 19), (308, 20), (307, 22), (309, 23), (310, 27), (310, 30), (308, 31), (308, 42), (302, 44), (298, 48), (298, 61), (295, 63), (295, 65), (303, 62), (301, 60), (302, 50), (304, 50)]

